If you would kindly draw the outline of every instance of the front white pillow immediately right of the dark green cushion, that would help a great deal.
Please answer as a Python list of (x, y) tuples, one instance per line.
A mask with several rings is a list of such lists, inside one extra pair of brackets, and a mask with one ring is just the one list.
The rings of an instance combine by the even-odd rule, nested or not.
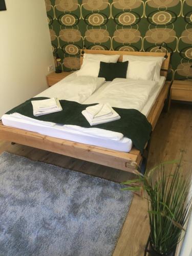
[(153, 80), (155, 61), (129, 60), (126, 78), (135, 80)]

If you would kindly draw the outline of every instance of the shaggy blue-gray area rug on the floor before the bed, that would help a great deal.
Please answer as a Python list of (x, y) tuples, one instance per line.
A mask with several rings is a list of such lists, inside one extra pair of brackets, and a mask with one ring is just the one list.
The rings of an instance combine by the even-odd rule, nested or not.
[(132, 193), (115, 182), (0, 156), (0, 255), (111, 255)]

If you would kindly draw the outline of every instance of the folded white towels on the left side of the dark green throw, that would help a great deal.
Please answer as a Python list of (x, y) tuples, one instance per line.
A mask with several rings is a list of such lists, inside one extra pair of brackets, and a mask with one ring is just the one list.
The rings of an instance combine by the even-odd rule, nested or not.
[(33, 105), (34, 116), (47, 115), (62, 110), (60, 102), (57, 98), (32, 100), (31, 103)]

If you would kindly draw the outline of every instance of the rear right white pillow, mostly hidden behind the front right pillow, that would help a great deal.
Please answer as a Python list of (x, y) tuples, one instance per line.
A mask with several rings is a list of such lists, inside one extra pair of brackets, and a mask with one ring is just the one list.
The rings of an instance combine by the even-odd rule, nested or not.
[[(160, 79), (160, 70), (162, 63), (164, 61), (164, 57), (156, 57), (156, 56), (135, 56), (135, 55), (123, 55), (123, 61), (129, 60), (140, 60), (140, 61), (156, 61), (156, 70), (154, 73), (154, 78), (152, 80), (159, 81)], [(128, 65), (129, 67), (129, 65)]]

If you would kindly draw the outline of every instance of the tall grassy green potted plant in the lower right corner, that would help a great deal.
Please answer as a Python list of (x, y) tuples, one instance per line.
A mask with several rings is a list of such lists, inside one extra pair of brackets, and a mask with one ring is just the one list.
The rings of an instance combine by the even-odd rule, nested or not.
[[(151, 232), (148, 239), (150, 249), (146, 248), (145, 253), (147, 251), (153, 256), (174, 255), (191, 212), (191, 181), (190, 177), (182, 176), (182, 158), (183, 152), (180, 160), (163, 162), (146, 171), (145, 175), (136, 171), (138, 179), (122, 183), (128, 185), (123, 190), (134, 191), (142, 197), (146, 191)], [(174, 171), (166, 172), (167, 164), (176, 164)]]

